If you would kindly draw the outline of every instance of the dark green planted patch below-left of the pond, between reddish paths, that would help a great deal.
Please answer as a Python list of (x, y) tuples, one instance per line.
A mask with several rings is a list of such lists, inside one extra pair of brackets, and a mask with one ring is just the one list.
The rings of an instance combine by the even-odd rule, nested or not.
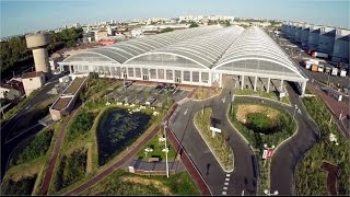
[(58, 169), (56, 189), (60, 190), (85, 176), (86, 150), (75, 150), (69, 155), (63, 155)]

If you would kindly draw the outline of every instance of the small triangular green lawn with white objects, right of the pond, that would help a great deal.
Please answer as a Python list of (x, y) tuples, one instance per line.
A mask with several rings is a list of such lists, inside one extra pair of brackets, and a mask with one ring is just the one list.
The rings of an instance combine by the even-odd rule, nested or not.
[[(163, 152), (162, 150), (165, 147), (165, 142), (164, 141), (159, 141), (159, 138), (163, 137), (162, 134), (158, 134), (155, 135), (138, 153), (137, 157), (140, 159), (144, 159), (148, 161), (149, 158), (159, 158), (160, 160), (164, 160), (165, 161), (165, 152)], [(174, 161), (176, 158), (176, 151), (174, 150), (174, 148), (171, 146), (170, 141), (166, 140), (166, 147), (168, 148), (168, 152), (167, 152), (167, 160), (168, 161)], [(152, 148), (153, 151), (152, 152), (148, 152), (147, 154), (144, 153), (144, 149), (147, 148)]]

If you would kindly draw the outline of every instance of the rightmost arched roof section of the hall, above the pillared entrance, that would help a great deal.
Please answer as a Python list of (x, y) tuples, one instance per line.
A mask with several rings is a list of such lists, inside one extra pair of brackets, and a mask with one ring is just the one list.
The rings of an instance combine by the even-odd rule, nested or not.
[[(255, 65), (252, 66), (252, 63)], [(246, 28), (215, 63), (215, 70), (241, 70), (277, 73), (305, 79), (294, 62), (261, 28)]]

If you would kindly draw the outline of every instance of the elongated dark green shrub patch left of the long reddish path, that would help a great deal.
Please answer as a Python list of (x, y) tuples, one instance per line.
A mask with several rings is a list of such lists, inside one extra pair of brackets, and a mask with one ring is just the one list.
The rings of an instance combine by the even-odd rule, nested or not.
[(13, 157), (13, 160), (10, 161), (10, 166), (19, 165), (46, 154), (50, 146), (52, 135), (54, 131), (51, 129), (46, 129), (43, 132), (37, 134), (28, 144), (18, 151)]

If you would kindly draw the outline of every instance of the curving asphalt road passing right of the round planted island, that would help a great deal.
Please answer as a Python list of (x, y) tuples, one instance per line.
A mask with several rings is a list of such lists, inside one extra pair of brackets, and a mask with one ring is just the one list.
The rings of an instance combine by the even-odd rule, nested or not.
[(294, 105), (301, 109), (301, 114), (295, 113), (298, 131), (284, 143), (280, 144), (273, 153), (270, 173), (270, 193), (279, 192), (279, 195), (295, 195), (294, 172), (300, 159), (310, 150), (319, 138), (319, 131), (314, 121), (308, 117), (306, 109), (302, 105), (299, 95), (287, 85), (290, 95), (290, 114), (294, 113)]

